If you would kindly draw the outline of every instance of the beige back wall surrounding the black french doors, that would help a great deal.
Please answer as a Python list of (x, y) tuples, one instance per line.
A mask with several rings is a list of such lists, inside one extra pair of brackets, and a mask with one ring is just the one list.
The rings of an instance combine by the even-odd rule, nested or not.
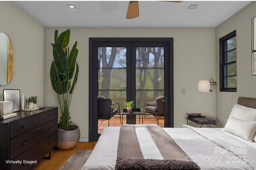
[[(198, 91), (199, 80), (216, 80), (215, 28), (122, 28), (122, 27), (46, 27), (45, 28), (45, 106), (58, 106), (50, 84), (51, 42), (54, 31), (70, 29), (70, 44), (78, 41), (79, 77), (70, 114), (80, 127), (81, 141), (88, 140), (89, 37), (173, 37), (174, 38), (174, 127), (186, 123), (187, 112), (201, 112), (216, 118), (216, 93)], [(181, 88), (186, 94), (181, 94)], [(212, 87), (216, 91), (215, 87)]]

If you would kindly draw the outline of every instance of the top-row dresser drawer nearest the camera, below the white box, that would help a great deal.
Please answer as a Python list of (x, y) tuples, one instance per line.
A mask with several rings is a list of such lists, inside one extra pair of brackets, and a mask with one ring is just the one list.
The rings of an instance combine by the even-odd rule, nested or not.
[(38, 116), (29, 117), (10, 124), (10, 138), (38, 127)]

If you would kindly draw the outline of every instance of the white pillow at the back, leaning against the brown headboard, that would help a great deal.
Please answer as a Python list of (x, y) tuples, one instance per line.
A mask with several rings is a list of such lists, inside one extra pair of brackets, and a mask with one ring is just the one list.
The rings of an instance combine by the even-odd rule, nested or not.
[(231, 116), (235, 117), (236, 119), (242, 119), (246, 121), (256, 121), (256, 109), (235, 104), (229, 117)]

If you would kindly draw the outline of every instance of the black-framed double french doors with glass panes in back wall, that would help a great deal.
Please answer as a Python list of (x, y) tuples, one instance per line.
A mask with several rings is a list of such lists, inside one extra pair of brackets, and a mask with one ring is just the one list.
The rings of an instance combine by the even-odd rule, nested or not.
[[(97, 96), (126, 101), (144, 111), (164, 96), (164, 127), (173, 127), (173, 39), (90, 38), (89, 141), (97, 141)], [(116, 102), (116, 101), (115, 101)]]

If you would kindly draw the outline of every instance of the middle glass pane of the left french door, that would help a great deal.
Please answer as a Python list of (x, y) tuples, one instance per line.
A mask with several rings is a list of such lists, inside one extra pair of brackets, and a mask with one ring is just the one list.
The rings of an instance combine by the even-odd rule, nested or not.
[(98, 71), (98, 89), (126, 90), (126, 69), (100, 68)]

